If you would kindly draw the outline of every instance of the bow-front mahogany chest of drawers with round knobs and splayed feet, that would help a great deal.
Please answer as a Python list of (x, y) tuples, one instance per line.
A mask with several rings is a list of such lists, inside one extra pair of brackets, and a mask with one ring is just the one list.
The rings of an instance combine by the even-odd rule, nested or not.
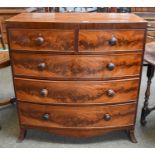
[(23, 13), (7, 20), (19, 140), (134, 126), (147, 22), (134, 14)]

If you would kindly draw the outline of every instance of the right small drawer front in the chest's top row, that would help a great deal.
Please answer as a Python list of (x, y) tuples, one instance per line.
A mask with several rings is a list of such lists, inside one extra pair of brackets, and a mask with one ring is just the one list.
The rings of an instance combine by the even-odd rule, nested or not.
[(144, 30), (81, 30), (79, 51), (141, 50), (144, 32)]

